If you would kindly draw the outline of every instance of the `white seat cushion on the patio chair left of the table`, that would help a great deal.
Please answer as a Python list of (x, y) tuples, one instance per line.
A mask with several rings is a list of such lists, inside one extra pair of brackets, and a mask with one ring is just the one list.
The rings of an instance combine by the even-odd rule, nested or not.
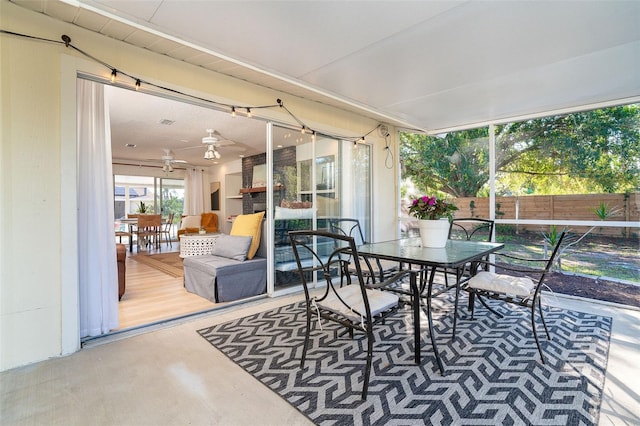
[[(381, 290), (366, 290), (366, 292), (372, 316), (378, 315), (398, 305), (399, 298), (393, 293)], [(336, 293), (355, 311), (363, 315), (365, 314), (366, 310), (364, 308), (364, 302), (362, 301), (362, 293), (359, 285), (352, 284), (337, 288)], [(360, 315), (347, 308), (333, 291), (329, 291), (327, 298), (322, 301), (317, 301), (317, 304), (319, 307), (343, 315), (351, 321), (360, 322), (363, 320), (363, 318), (360, 318)]]

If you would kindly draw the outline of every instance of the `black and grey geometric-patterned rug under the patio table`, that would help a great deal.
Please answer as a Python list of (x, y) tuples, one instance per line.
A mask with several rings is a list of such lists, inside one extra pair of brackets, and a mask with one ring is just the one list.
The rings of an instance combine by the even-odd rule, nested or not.
[[(462, 315), (451, 339), (451, 304), (437, 301), (434, 328), (446, 374), (432, 355), (423, 314), (422, 365), (413, 363), (410, 310), (377, 324), (366, 401), (360, 399), (366, 338), (313, 321), (300, 369), (304, 303), (241, 318), (198, 333), (320, 425), (591, 425), (598, 423), (611, 318), (547, 309), (551, 341), (539, 361), (527, 311), (481, 306)], [(460, 306), (466, 307), (466, 297)], [(461, 313), (466, 314), (462, 308)], [(337, 333), (339, 331), (339, 333)], [(336, 337), (337, 334), (337, 337)]]

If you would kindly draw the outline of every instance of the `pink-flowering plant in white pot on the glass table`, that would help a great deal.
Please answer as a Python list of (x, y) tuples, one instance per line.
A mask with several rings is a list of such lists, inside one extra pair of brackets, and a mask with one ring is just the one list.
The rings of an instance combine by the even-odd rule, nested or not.
[(409, 214), (418, 219), (422, 247), (442, 248), (447, 245), (449, 224), (458, 207), (444, 199), (423, 195), (414, 199)]

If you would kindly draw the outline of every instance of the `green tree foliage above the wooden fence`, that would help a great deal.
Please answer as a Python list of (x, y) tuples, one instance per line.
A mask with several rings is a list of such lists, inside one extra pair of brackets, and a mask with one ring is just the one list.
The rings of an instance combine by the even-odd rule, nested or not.
[[(401, 134), (405, 177), (426, 191), (476, 196), (487, 184), (488, 128)], [(503, 193), (624, 192), (640, 186), (638, 104), (496, 126)]]

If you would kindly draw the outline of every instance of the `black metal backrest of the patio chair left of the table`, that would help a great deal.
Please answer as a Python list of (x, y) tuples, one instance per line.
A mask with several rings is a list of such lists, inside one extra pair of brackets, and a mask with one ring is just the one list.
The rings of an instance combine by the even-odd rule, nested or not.
[[(314, 273), (322, 274), (327, 283), (325, 293), (318, 300), (325, 299), (329, 293), (335, 293), (334, 280), (345, 278), (347, 284), (351, 284), (352, 275), (358, 280), (362, 297), (369, 310), (369, 302), (365, 292), (365, 280), (360, 264), (355, 262), (355, 268), (348, 272), (349, 260), (352, 256), (358, 256), (355, 240), (352, 237), (327, 231), (290, 231), (289, 240), (293, 249), (293, 255), (298, 266), (298, 273), (304, 288), (307, 301), (310, 300), (309, 283), (314, 279)], [(340, 299), (340, 296), (337, 296)], [(348, 306), (348, 303), (340, 299)], [(368, 318), (370, 320), (370, 318)]]

